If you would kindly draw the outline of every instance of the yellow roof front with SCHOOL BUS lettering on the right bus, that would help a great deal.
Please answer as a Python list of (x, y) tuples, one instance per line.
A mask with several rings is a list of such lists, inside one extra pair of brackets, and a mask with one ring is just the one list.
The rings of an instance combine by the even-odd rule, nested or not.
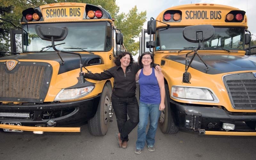
[[(179, 20), (174, 20), (175, 13), (180, 14)], [(169, 14), (169, 15), (168, 15)], [(233, 14), (231, 21), (227, 20), (227, 15)], [(236, 15), (241, 17), (241, 20), (236, 20)], [(165, 19), (167, 16), (167, 20)], [(171, 18), (168, 20), (168, 18)], [(157, 17), (156, 20), (169, 24), (171, 26), (189, 26), (199, 24), (211, 24), (213, 26), (234, 26), (244, 27), (247, 29), (247, 17), (245, 11), (239, 10), (234, 7), (220, 4), (209, 4), (209, 3), (196, 3), (186, 4), (167, 8), (163, 10)], [(157, 22), (157, 27), (164, 27), (166, 24)]]

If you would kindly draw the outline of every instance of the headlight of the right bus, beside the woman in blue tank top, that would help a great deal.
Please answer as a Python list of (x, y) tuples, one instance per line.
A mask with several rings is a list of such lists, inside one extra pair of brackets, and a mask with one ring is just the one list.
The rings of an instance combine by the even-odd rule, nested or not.
[(185, 101), (218, 103), (219, 100), (209, 88), (172, 86), (172, 98)]

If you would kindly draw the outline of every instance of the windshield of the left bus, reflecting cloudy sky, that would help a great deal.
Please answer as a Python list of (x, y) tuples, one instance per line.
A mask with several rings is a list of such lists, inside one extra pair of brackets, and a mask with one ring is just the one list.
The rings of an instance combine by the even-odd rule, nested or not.
[[(36, 24), (24, 24), (23, 52), (38, 52), (43, 47), (52, 45), (50, 41), (42, 40), (36, 34)], [(55, 42), (56, 48), (65, 51), (84, 52), (67, 48), (82, 48), (87, 51), (108, 51), (111, 49), (111, 25), (108, 22), (81, 22), (81, 23), (52, 23), (38, 24), (41, 26), (68, 27), (68, 35), (63, 41)], [(52, 47), (45, 51), (53, 51)]]

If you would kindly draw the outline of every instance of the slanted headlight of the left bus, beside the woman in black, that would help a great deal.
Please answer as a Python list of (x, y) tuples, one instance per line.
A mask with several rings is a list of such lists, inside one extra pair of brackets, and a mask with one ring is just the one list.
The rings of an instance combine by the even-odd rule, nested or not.
[(78, 99), (85, 96), (86, 94), (89, 94), (93, 88), (94, 86), (73, 89), (62, 89), (57, 94), (54, 101)]

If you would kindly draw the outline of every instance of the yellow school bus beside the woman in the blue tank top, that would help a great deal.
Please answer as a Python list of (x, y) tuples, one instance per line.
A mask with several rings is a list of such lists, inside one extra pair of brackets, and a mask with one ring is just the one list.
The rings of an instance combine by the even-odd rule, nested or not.
[(163, 133), (256, 136), (256, 57), (245, 51), (247, 28), (245, 11), (206, 3), (171, 7), (148, 21), (147, 47), (165, 80)]

